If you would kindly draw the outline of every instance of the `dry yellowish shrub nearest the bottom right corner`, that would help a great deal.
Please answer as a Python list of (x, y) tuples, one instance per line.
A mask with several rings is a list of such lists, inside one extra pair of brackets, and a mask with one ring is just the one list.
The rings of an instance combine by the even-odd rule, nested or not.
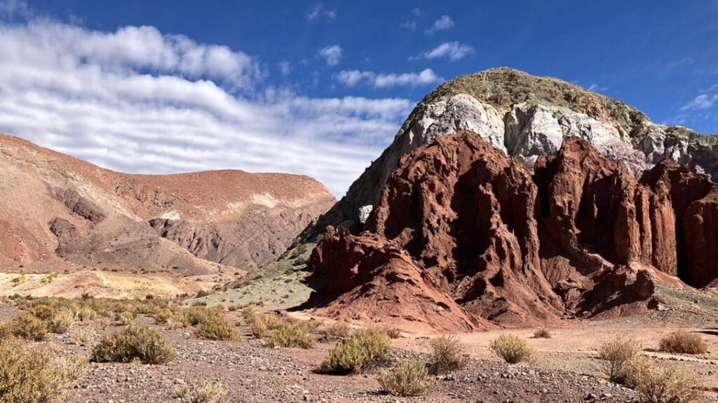
[(671, 364), (634, 356), (623, 366), (625, 384), (648, 403), (690, 403), (701, 395), (699, 382)]

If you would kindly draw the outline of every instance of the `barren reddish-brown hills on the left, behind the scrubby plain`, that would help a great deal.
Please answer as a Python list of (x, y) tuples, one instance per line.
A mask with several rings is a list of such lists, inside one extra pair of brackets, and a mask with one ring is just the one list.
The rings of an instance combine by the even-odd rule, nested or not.
[(226, 279), (281, 255), (334, 201), (307, 176), (122, 174), (1, 135), (0, 267)]

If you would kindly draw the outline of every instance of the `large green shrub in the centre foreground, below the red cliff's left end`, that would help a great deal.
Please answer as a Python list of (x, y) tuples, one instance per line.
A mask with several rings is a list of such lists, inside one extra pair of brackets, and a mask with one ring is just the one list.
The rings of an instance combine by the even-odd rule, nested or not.
[(381, 364), (391, 349), (389, 338), (376, 329), (364, 329), (345, 338), (329, 351), (320, 371), (330, 374), (358, 373), (367, 366)]

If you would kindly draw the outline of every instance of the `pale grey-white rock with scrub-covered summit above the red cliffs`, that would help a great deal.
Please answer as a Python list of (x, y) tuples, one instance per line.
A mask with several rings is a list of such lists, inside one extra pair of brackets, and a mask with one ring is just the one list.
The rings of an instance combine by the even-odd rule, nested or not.
[(457, 77), (426, 95), (391, 146), (304, 232), (305, 239), (327, 225), (363, 229), (360, 216), (376, 207), (401, 156), (460, 130), (477, 133), (529, 166), (556, 153), (566, 138), (579, 137), (635, 177), (670, 158), (718, 178), (718, 138), (656, 125), (636, 108), (569, 82), (499, 68)]

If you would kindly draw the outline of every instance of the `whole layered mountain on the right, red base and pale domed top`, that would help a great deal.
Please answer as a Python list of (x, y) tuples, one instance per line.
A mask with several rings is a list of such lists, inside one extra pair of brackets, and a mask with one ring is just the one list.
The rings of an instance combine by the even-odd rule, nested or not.
[(718, 286), (716, 144), (554, 78), (458, 77), (305, 230), (309, 305), (470, 331), (694, 298)]

